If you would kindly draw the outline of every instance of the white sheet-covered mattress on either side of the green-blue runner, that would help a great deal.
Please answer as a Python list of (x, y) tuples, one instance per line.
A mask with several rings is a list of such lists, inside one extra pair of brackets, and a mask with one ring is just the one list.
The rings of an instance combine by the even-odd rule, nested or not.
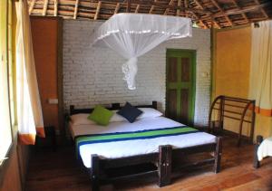
[[(143, 129), (162, 129), (179, 126), (184, 125), (164, 117), (138, 119), (133, 123), (127, 121), (112, 122), (107, 127), (99, 125), (73, 126), (71, 123), (69, 125), (73, 138), (75, 136), (85, 134), (102, 134), (123, 131), (136, 131)], [(101, 158), (123, 158), (158, 152), (160, 145), (171, 145), (173, 148), (186, 148), (213, 143), (215, 141), (215, 136), (205, 132), (197, 132), (160, 138), (134, 139), (83, 145), (79, 148), (79, 154), (83, 159), (84, 166), (92, 167), (92, 154), (97, 154)]]

